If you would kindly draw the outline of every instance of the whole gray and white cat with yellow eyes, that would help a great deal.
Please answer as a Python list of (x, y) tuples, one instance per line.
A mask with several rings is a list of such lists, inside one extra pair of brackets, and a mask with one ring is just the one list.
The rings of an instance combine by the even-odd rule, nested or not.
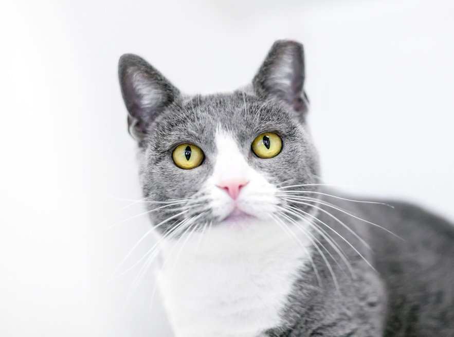
[(454, 226), (321, 183), (304, 74), (281, 40), (251, 85), (191, 97), (120, 58), (175, 336), (454, 336)]

